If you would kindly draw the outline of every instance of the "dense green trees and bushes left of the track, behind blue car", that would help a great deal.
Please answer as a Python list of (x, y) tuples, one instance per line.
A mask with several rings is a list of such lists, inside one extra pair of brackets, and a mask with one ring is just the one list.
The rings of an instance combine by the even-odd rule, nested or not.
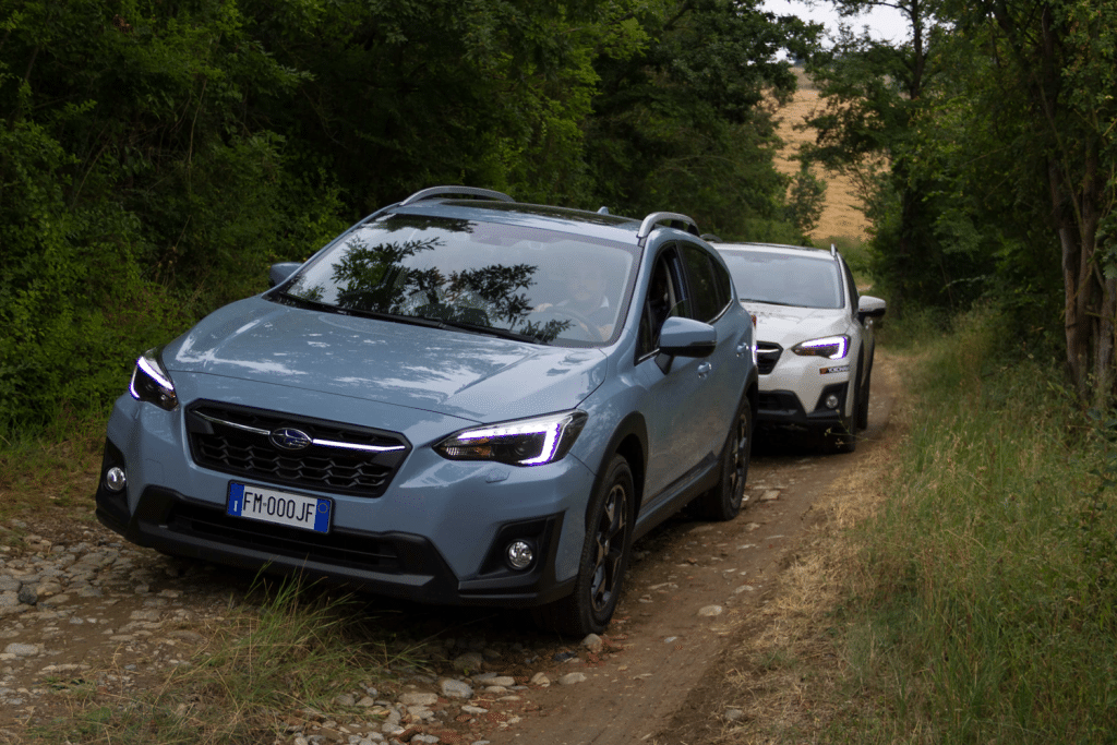
[(762, 102), (817, 32), (728, 0), (6, 2), (0, 431), (103, 416), (137, 353), (433, 184), (803, 240)]

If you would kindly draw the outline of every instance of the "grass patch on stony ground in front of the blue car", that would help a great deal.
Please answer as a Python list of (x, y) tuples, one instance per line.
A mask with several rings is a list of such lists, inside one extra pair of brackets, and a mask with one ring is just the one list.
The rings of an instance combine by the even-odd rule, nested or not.
[(60, 690), (70, 715), (29, 730), (27, 742), (271, 743), (307, 717), (376, 722), (375, 708), (346, 710), (338, 695), (383, 685), (390, 665), (416, 663), (405, 650), (392, 651), (394, 642), (351, 601), (313, 590), (259, 584), (265, 602), (230, 609), (204, 634), (204, 648), (157, 686), (116, 695), (87, 682)]

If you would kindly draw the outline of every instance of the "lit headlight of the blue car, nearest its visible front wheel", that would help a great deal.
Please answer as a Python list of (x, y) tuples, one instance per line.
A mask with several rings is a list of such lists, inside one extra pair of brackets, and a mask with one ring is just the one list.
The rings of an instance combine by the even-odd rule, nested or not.
[(561, 460), (585, 426), (584, 411), (467, 429), (435, 446), (450, 460), (496, 460), (509, 466), (542, 466)]

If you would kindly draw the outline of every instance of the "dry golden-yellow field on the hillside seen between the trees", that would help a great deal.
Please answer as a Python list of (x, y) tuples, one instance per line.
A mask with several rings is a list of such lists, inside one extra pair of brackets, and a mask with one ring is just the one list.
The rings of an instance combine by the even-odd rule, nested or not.
[[(796, 74), (799, 90), (795, 92), (795, 98), (776, 114), (780, 118), (780, 137), (785, 143), (783, 152), (776, 156), (776, 168), (781, 173), (787, 174), (799, 171), (799, 163), (792, 161), (791, 156), (799, 151), (800, 143), (814, 139), (813, 130), (796, 130), (795, 126), (802, 125), (814, 109), (818, 108), (820, 112), (822, 109), (819, 92), (801, 69), (796, 69)], [(850, 180), (820, 168), (814, 169), (814, 175), (827, 182), (827, 195), (822, 217), (818, 227), (810, 232), (810, 237), (815, 240), (833, 237), (867, 238), (866, 229), (869, 223), (857, 209), (860, 200), (855, 195)]]

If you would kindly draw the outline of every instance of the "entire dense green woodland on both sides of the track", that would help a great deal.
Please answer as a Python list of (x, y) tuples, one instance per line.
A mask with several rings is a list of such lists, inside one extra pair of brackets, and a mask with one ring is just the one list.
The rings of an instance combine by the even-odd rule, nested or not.
[(891, 313), (994, 298), (1107, 403), (1117, 2), (884, 4), (905, 41), (823, 49), (731, 0), (7, 2), (0, 430), (102, 416), (137, 352), (436, 183), (802, 241), (820, 184), (773, 168), (781, 50)]

